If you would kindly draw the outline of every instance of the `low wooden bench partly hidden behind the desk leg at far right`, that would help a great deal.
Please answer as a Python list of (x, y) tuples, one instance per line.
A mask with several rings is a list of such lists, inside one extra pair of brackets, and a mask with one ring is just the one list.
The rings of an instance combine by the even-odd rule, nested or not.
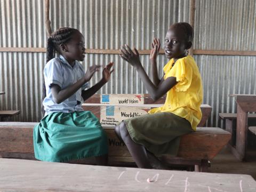
[[(235, 123), (237, 114), (236, 113), (219, 113), (219, 117), (225, 121), (225, 129), (231, 133), (231, 139), (229, 141), (231, 146), (234, 146), (236, 143), (236, 132)], [(256, 119), (256, 114), (248, 114), (248, 119)]]

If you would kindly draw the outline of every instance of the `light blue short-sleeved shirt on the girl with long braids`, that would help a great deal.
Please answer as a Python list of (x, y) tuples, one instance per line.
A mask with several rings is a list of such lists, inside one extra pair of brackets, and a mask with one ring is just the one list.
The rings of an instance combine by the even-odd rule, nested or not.
[(82, 90), (89, 87), (85, 83), (79, 90), (61, 103), (56, 103), (51, 93), (51, 84), (57, 84), (61, 89), (73, 85), (85, 75), (83, 66), (78, 61), (71, 67), (68, 61), (60, 55), (46, 63), (44, 68), (44, 82), (46, 87), (46, 97), (43, 101), (45, 115), (52, 112), (71, 113), (74, 111), (83, 111)]

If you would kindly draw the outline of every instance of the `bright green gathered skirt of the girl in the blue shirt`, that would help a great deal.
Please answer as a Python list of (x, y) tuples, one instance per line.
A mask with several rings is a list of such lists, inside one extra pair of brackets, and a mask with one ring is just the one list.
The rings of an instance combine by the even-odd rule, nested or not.
[(91, 111), (54, 112), (34, 127), (35, 158), (68, 162), (108, 153), (107, 135)]

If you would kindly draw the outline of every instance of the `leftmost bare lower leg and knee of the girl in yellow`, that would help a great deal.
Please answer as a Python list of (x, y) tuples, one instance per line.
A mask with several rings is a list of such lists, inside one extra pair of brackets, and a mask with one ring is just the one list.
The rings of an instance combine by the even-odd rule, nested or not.
[(126, 147), (130, 151), (135, 163), (139, 168), (152, 169), (148, 161), (147, 151), (144, 146), (135, 143), (127, 130), (124, 122), (115, 127), (116, 134), (119, 138), (122, 138)]

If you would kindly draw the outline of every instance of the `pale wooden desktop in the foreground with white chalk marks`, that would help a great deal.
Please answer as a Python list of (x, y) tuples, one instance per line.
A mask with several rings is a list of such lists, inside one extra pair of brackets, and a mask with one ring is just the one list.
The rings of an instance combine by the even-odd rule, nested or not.
[[(0, 158), (1, 191), (256, 191), (250, 175)], [(151, 182), (147, 182), (147, 180)]]

